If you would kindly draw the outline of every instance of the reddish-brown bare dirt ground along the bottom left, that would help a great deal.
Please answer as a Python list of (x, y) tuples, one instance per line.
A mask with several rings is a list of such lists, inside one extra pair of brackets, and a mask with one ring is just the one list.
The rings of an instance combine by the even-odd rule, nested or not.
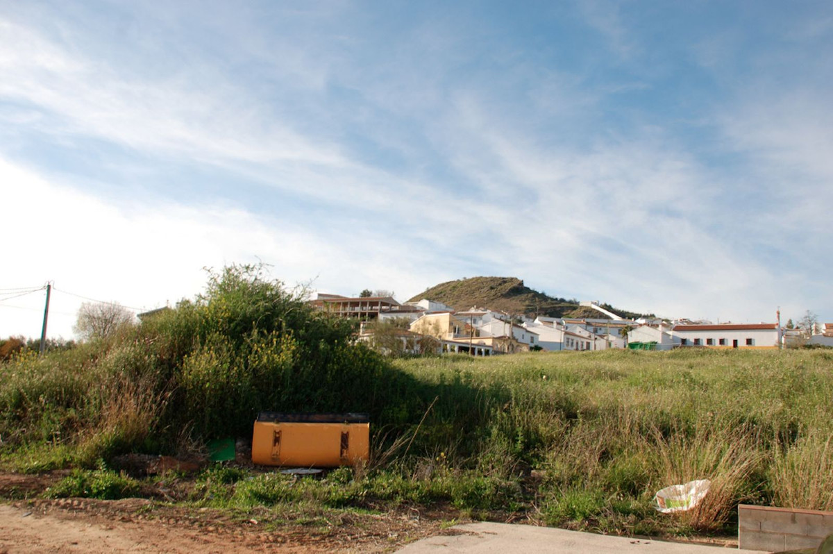
[[(31, 499), (63, 472), (0, 474), (0, 554), (11, 552), (392, 552), (443, 530), (442, 513), (406, 508), (342, 513), (304, 525), (262, 514), (192, 508), (144, 498)], [(262, 517), (261, 517), (262, 516)]]

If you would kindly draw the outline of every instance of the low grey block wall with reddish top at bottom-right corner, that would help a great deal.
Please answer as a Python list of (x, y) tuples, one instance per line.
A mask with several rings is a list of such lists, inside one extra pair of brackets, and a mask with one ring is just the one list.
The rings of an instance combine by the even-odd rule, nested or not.
[(741, 504), (737, 519), (738, 547), (749, 550), (816, 548), (833, 533), (833, 512)]

